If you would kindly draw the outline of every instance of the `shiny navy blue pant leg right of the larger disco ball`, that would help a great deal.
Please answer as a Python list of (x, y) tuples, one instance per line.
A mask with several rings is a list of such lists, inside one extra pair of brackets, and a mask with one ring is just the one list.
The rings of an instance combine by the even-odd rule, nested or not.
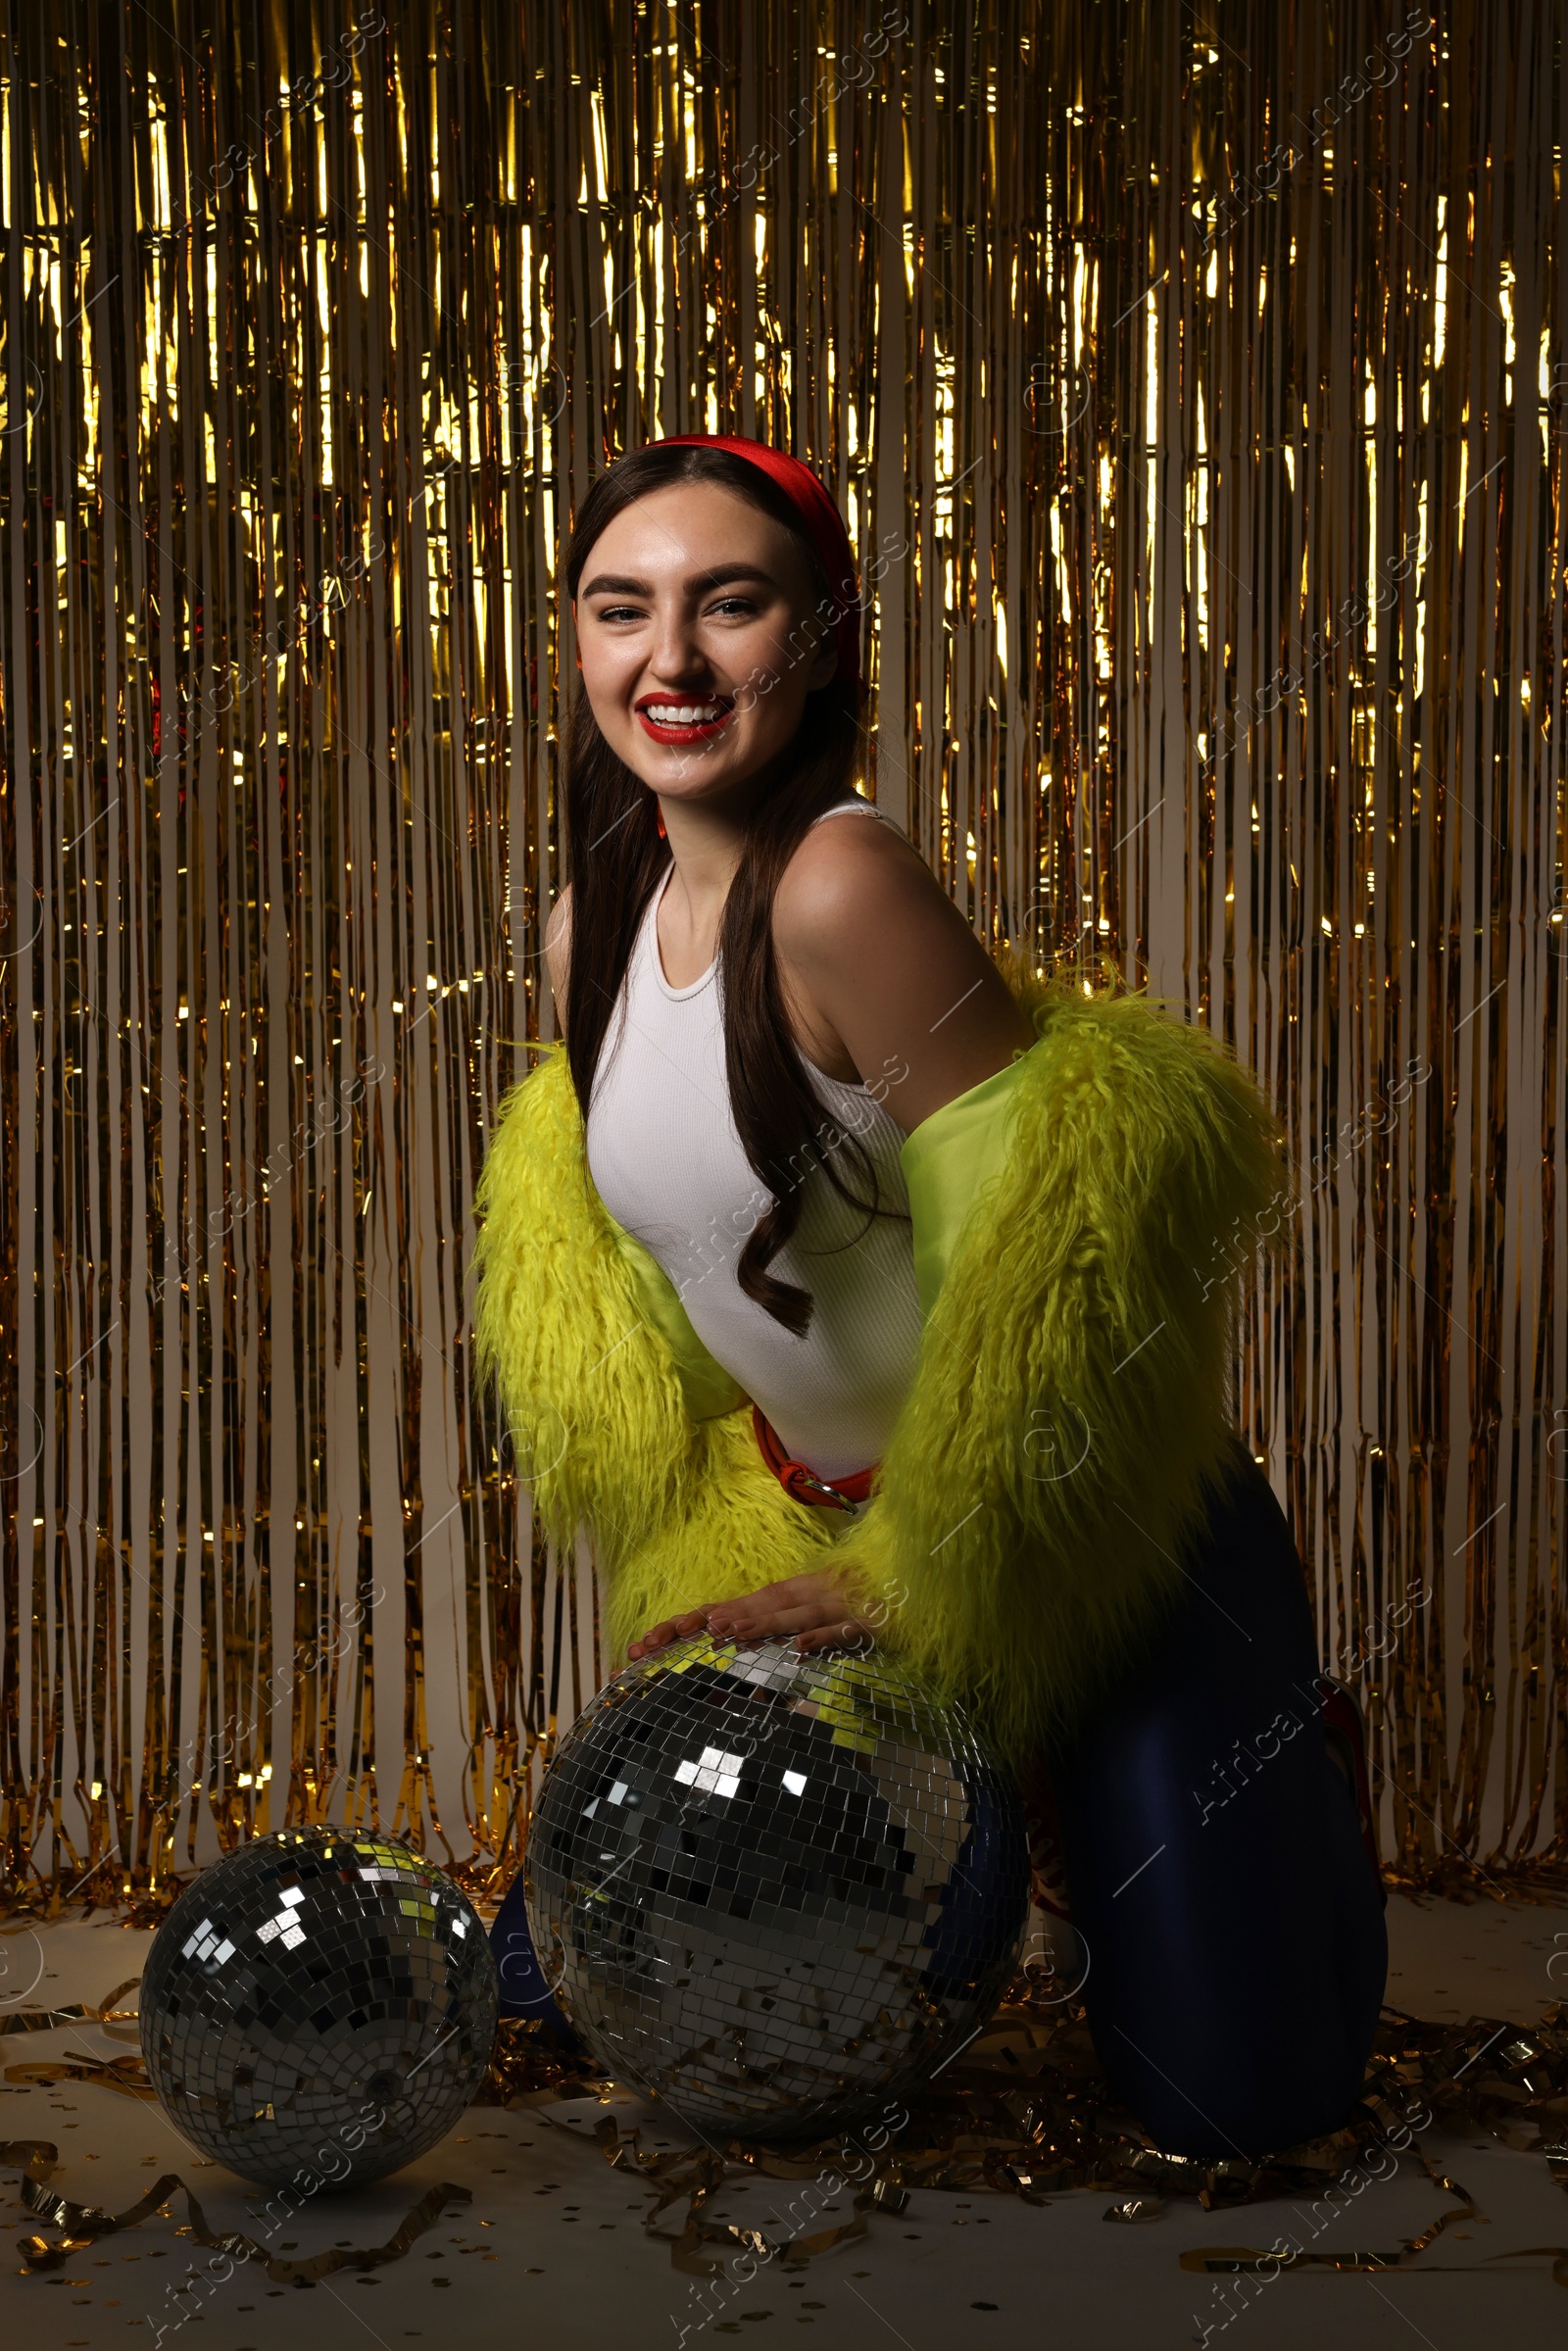
[(1168, 2154), (1335, 2130), (1382, 2005), (1382, 1888), (1319, 1723), (1286, 1516), (1237, 1441), (1175, 1617), (1051, 1759), (1100, 2064)]

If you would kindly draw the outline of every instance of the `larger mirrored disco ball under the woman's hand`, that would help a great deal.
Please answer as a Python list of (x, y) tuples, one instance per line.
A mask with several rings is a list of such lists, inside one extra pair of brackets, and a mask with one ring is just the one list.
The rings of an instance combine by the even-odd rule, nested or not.
[(524, 1857), (543, 1977), (698, 2135), (851, 2125), (990, 2017), (1030, 1900), (1018, 1794), (889, 1657), (698, 1636), (618, 1674)]

